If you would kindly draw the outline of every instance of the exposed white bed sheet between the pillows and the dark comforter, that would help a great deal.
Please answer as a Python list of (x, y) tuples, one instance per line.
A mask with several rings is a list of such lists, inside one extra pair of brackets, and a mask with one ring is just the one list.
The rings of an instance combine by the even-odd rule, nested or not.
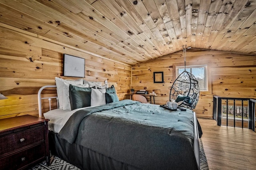
[[(96, 107), (96, 106), (91, 106)], [(49, 119), (48, 129), (52, 132), (58, 133), (62, 129), (62, 127), (66, 124), (68, 119), (76, 112), (81, 109), (85, 109), (89, 107), (83, 107), (79, 109), (75, 109), (72, 111), (63, 110), (63, 109), (54, 109), (44, 113), (44, 118)]]

